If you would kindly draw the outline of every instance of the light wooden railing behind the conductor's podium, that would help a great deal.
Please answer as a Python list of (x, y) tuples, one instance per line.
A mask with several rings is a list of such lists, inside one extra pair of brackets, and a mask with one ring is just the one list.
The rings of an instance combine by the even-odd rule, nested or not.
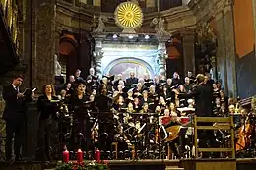
[[(200, 126), (198, 123), (214, 123), (214, 125)], [(195, 156), (199, 157), (199, 152), (231, 152), (232, 158), (235, 158), (234, 149), (234, 124), (232, 117), (215, 118), (215, 117), (194, 117), (194, 142), (195, 142)], [(231, 135), (231, 148), (200, 148), (198, 146), (198, 130), (228, 130)], [(200, 140), (200, 139), (199, 139)]]

